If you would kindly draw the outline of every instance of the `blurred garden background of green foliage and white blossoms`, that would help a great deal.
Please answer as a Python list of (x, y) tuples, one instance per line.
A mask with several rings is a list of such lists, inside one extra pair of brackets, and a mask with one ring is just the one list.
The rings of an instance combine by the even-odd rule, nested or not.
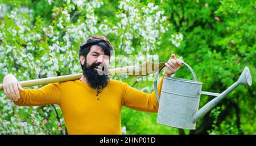
[[(0, 82), (12, 73), (19, 81), (81, 73), (79, 46), (90, 35), (114, 46), (110, 68), (141, 64), (172, 53), (187, 62), (203, 91), (221, 93), (248, 66), (253, 85), (238, 86), (196, 130), (156, 123), (156, 113), (123, 107), (123, 134), (256, 134), (255, 1), (51, 1), (0, 0)], [(128, 60), (137, 55), (137, 60)], [(193, 80), (188, 68), (175, 77)], [(152, 79), (110, 76), (151, 93)], [(38, 88), (34, 86), (29, 88)], [(213, 97), (201, 95), (200, 107)], [(59, 106), (18, 107), (0, 91), (0, 134), (67, 134)]]

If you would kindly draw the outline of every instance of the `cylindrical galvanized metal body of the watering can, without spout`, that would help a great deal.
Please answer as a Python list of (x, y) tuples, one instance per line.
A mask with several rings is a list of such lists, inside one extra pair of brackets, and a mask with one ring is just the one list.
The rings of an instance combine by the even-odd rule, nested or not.
[(171, 127), (195, 130), (193, 114), (199, 109), (201, 82), (164, 77), (157, 122)]

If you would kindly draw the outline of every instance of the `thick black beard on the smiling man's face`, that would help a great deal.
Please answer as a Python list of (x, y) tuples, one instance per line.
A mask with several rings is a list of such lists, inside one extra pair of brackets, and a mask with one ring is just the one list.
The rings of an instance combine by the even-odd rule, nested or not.
[(98, 74), (97, 70), (94, 70), (94, 68), (99, 65), (101, 65), (101, 63), (97, 62), (93, 63), (92, 65), (86, 66), (85, 62), (85, 65), (82, 66), (82, 74), (84, 74), (84, 77), (86, 77), (87, 84), (90, 87), (97, 90), (103, 90), (104, 87), (108, 85), (109, 76), (108, 74), (100, 75)]

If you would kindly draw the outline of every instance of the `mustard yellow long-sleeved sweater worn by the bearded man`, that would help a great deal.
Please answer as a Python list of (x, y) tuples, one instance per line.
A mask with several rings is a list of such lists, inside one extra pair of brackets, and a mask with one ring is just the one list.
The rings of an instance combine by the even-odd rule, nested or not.
[[(163, 77), (158, 84), (159, 95), (162, 82)], [(80, 80), (48, 84), (19, 93), (19, 100), (14, 102), (18, 106), (59, 105), (68, 134), (121, 134), (122, 106), (158, 111), (155, 91), (144, 93), (117, 80), (110, 80), (98, 96)]]

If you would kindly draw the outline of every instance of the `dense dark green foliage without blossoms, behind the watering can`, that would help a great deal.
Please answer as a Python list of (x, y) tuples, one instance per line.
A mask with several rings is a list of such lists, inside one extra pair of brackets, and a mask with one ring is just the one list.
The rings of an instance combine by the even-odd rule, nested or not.
[[(192, 66), (199, 81), (203, 82), (204, 91), (221, 93), (238, 80), (245, 66), (250, 68), (252, 80), (255, 81), (254, 6), (253, 1), (168, 1), (165, 9), (175, 26), (172, 31), (181, 32), (184, 36), (175, 52)], [(176, 73), (177, 77), (192, 79), (188, 69), (181, 70)], [(219, 130), (225, 131), (222, 128), (226, 124), (232, 128), (233, 123), (236, 126), (239, 123), (238, 126), (242, 127), (242, 131), (238, 130), (239, 134), (255, 134), (254, 97), (255, 84), (251, 87), (239, 86), (232, 91), (219, 104), (223, 106), (221, 113), (229, 113), (225, 116), (221, 114), (221, 118), (217, 119), (222, 122)], [(209, 98), (201, 98), (200, 107)], [(241, 123), (234, 122), (236, 120)], [(197, 128), (207, 131), (210, 125), (203, 127), (200, 123)], [(220, 132), (224, 133), (227, 134)]]

